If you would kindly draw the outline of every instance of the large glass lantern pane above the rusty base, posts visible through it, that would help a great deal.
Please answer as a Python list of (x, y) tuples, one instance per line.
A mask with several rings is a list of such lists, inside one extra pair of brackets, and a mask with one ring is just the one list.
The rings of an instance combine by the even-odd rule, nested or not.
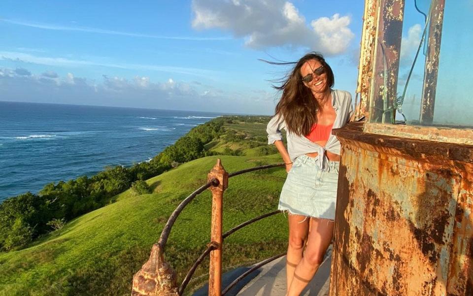
[[(380, 4), (386, 1), (380, 0)], [(434, 22), (426, 26), (432, 2), (435, 4), (431, 14)], [(440, 0), (405, 0), (397, 61), (393, 58), (398, 50), (394, 41), (400, 30), (386, 26), (387, 17), (381, 10), (370, 122), (394, 123), (391, 110), (397, 109), (396, 123), (473, 126), (473, 75), (468, 73), (473, 68), (473, 1), (445, 2), (441, 9)], [(387, 30), (381, 30), (383, 25)], [(419, 49), (424, 31), (425, 42)], [(440, 48), (436, 49), (439, 36)]]

